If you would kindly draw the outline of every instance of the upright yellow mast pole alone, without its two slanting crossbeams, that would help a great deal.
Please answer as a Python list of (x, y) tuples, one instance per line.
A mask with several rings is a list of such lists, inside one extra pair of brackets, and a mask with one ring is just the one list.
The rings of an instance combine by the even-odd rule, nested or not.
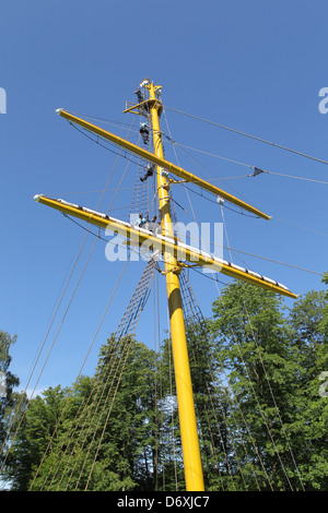
[[(150, 99), (153, 100), (150, 102), (150, 106), (153, 127), (154, 152), (159, 157), (163, 158), (162, 134), (159, 116), (159, 108), (161, 107), (161, 103), (156, 100), (155, 96), (155, 92), (160, 87), (154, 86), (153, 83), (149, 83), (147, 88), (150, 94)], [(166, 237), (169, 237), (174, 235), (168, 196), (169, 183), (162, 172), (162, 168), (160, 166), (156, 167), (156, 178), (162, 234)], [(164, 253), (164, 262), (186, 489), (187, 491), (202, 491), (204, 490), (204, 485), (187, 350), (185, 321), (183, 314), (183, 301), (178, 277), (179, 266), (176, 258), (172, 253)]]

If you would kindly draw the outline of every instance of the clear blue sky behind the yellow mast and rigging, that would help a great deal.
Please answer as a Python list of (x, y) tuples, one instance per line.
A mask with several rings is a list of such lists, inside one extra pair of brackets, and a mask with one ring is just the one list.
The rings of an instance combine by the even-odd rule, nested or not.
[[(167, 124), (163, 120), (162, 129), (166, 132), (168, 126), (175, 141), (272, 172), (328, 181), (327, 165), (168, 108), (327, 160), (328, 115), (318, 110), (319, 90), (328, 86), (327, 11), (324, 1), (296, 0), (2, 3), (0, 87), (7, 92), (7, 114), (0, 115), (0, 327), (17, 335), (11, 370), (21, 379), (21, 387), (85, 236), (33, 196), (66, 194), (68, 201), (94, 208), (99, 192), (67, 193), (104, 189), (116, 159), (56, 116), (56, 108), (129, 123), (131, 115), (122, 114), (125, 103), (134, 100), (133, 91), (149, 76), (163, 86)], [(119, 128), (112, 130), (122, 135)], [(167, 155), (174, 158), (169, 144)], [(328, 270), (327, 184), (277, 175), (242, 178), (249, 168), (192, 155), (212, 176), (226, 179), (220, 182), (222, 188), (272, 215), (265, 222), (224, 210), (231, 247), (317, 273)], [(200, 172), (183, 153), (179, 158), (191, 172)], [(125, 165), (117, 169), (112, 187)], [(134, 183), (134, 174), (131, 166), (122, 187)], [(236, 176), (241, 178), (232, 178)], [(103, 210), (112, 198), (105, 195)], [(130, 198), (131, 191), (122, 190), (113, 206), (126, 206)], [(175, 198), (189, 210), (184, 191), (177, 190)], [(200, 222), (222, 222), (220, 207), (199, 196), (192, 195), (192, 207)], [(177, 214), (187, 220), (178, 207)], [(28, 389), (39, 375), (38, 390), (70, 384), (80, 371), (122, 266), (106, 260), (105, 243), (98, 241), (66, 315), (93, 242), (89, 237)], [(297, 294), (323, 288), (316, 274), (248, 255), (234, 258)], [(143, 267), (131, 263), (124, 275), (85, 373), (93, 371), (99, 345), (115, 331)], [(218, 296), (213, 282), (191, 272), (190, 281), (203, 313), (210, 314)], [(163, 278), (160, 283), (163, 335)], [(150, 347), (154, 347), (152, 302), (150, 298), (137, 334)]]

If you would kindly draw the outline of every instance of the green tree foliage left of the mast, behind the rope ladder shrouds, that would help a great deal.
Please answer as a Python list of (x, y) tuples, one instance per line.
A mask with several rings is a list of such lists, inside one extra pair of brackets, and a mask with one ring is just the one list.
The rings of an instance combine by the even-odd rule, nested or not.
[(31, 402), (14, 445), (25, 476), (23, 482), (13, 466), (16, 488), (33, 481), (34, 490), (155, 489), (155, 365), (156, 355), (143, 344), (113, 336), (93, 378)]

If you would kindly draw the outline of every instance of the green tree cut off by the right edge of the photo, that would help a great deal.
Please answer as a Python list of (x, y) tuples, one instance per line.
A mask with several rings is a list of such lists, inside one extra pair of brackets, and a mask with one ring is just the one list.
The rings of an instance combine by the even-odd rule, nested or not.
[(291, 445), (304, 487), (327, 491), (328, 398), (320, 393), (320, 377), (328, 377), (327, 294), (313, 290), (295, 301), (290, 324), (291, 357), (298, 363), (293, 419), (288, 426)]

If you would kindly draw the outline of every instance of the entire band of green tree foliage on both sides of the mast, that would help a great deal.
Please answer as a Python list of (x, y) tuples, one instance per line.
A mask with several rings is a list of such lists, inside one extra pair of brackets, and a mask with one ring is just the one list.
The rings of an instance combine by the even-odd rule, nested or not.
[[(288, 308), (234, 282), (212, 319), (186, 321), (206, 489), (326, 490), (327, 294)], [(113, 335), (93, 377), (25, 408), (12, 488), (184, 490), (173, 369), (169, 338), (156, 353)]]

